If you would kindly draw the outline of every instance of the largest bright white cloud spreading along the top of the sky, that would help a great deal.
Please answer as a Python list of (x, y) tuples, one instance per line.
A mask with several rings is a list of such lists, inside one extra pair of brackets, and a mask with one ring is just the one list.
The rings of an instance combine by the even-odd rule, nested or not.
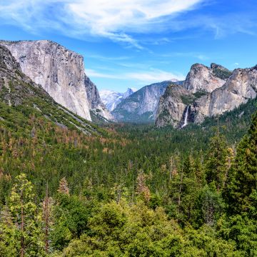
[(0, 4), (0, 17), (29, 31), (51, 28), (70, 36), (90, 34), (143, 49), (131, 33), (152, 31), (166, 16), (191, 10), (202, 1), (9, 0)]

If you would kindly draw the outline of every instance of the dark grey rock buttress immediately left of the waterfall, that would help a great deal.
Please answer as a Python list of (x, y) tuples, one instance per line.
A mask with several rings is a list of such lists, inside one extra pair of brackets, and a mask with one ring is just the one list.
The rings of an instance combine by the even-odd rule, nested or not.
[(183, 88), (183, 86), (176, 84), (168, 86), (158, 103), (156, 126), (181, 126), (185, 119), (187, 101), (191, 101), (192, 98), (191, 92)]

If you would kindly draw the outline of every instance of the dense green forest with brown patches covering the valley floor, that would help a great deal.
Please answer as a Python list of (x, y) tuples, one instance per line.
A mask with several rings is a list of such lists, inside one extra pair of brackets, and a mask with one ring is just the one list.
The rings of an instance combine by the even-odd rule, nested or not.
[(91, 136), (0, 109), (0, 256), (257, 256), (256, 99)]

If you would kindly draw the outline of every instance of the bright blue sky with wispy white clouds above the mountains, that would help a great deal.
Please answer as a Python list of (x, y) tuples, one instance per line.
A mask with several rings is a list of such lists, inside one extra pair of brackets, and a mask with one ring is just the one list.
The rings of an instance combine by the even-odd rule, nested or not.
[(0, 39), (49, 39), (84, 56), (96, 86), (124, 92), (191, 65), (257, 64), (256, 0), (0, 0)]

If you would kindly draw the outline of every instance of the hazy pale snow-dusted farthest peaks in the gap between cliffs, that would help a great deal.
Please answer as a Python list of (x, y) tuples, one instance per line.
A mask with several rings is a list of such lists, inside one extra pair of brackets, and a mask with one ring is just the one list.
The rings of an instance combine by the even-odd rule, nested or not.
[(101, 90), (100, 96), (107, 109), (109, 111), (114, 111), (114, 109), (122, 101), (122, 99), (126, 99), (135, 91), (136, 89), (127, 89), (125, 93), (119, 93), (111, 90)]

